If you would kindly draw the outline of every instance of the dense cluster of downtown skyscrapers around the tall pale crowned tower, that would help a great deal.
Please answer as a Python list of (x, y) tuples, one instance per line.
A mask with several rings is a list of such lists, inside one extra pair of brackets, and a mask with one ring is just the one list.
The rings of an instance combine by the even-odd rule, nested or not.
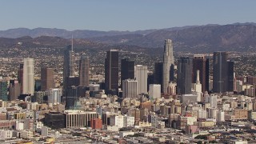
[[(146, 66), (135, 65), (135, 62), (128, 58), (121, 60), (122, 97), (135, 98), (138, 94), (147, 94), (148, 91), (161, 91), (162, 94), (233, 91), (234, 62), (227, 60), (226, 52), (214, 52), (213, 57), (213, 82), (210, 82), (210, 59), (206, 55), (194, 54), (193, 58), (178, 58), (177, 68), (175, 68), (173, 44), (170, 39), (166, 39), (163, 61), (155, 63), (153, 77), (148, 77)], [(109, 50), (105, 61), (107, 93), (118, 94), (118, 71), (118, 50)], [(175, 74), (177, 77), (174, 77)], [(149, 84), (155, 86), (149, 86)], [(154, 87), (154, 90), (148, 90), (150, 87)]]

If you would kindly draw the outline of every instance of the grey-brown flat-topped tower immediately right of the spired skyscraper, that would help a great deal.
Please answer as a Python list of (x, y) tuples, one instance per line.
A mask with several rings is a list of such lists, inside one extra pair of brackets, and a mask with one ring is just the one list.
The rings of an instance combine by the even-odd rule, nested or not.
[(82, 55), (79, 62), (79, 83), (80, 86), (89, 86), (90, 80), (90, 61), (85, 55)]

